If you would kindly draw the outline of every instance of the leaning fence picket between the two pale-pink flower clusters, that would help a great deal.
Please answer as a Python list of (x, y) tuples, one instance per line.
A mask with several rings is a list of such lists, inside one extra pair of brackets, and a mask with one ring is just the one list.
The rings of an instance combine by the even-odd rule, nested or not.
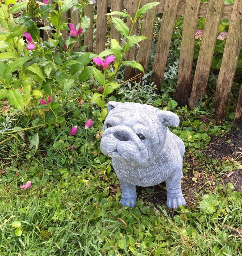
[(196, 102), (203, 96), (206, 90), (223, 5), (224, 1), (221, 0), (210, 0), (208, 3), (204, 34), (198, 54), (198, 62), (189, 101), (190, 108), (194, 108)]

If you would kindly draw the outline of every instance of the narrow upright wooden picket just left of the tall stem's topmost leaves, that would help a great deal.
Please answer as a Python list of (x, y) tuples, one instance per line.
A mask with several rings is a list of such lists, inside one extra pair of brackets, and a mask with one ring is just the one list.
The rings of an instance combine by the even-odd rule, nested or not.
[(107, 30), (107, 0), (97, 0), (96, 20), (96, 54), (105, 50)]

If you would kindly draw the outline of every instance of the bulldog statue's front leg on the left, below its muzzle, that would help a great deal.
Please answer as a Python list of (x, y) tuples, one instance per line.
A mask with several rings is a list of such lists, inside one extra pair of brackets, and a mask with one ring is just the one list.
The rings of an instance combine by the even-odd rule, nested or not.
[(130, 184), (123, 179), (119, 179), (122, 189), (122, 199), (120, 204), (123, 206), (133, 207), (136, 203), (136, 185)]

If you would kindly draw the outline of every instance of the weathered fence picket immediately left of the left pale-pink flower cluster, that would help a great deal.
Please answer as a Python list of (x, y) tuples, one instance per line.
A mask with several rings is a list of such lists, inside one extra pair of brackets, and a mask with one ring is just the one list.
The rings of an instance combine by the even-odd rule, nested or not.
[(184, 106), (188, 103), (188, 96), (191, 92), (191, 69), (200, 3), (197, 0), (186, 1), (175, 96), (179, 106)]

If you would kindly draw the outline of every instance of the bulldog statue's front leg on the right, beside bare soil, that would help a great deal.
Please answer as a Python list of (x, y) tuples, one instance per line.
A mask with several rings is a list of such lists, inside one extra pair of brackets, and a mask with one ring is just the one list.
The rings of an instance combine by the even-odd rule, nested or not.
[(165, 181), (167, 193), (167, 206), (177, 209), (179, 205), (185, 205), (186, 201), (181, 192), (181, 174), (172, 176)]

